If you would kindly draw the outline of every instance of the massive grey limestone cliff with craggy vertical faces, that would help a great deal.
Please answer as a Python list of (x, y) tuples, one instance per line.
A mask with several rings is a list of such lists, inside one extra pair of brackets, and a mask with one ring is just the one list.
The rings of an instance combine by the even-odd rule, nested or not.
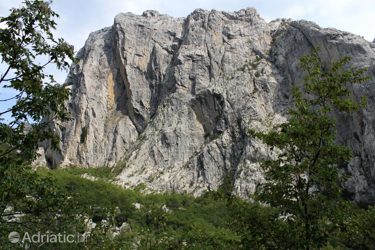
[(348, 55), (350, 67), (369, 67), (372, 80), (353, 86), (353, 98), (366, 95), (369, 106), (341, 114), (338, 141), (354, 150), (341, 166), (352, 175), (349, 194), (374, 200), (375, 45), (305, 20), (267, 24), (252, 7), (196, 9), (187, 18), (120, 13), (112, 27), (91, 33), (65, 82), (74, 119), (58, 131), (63, 155), (46, 144), (46, 160), (52, 167), (121, 163), (125, 188), (195, 195), (231, 173), (246, 196), (264, 181), (255, 161), (268, 157), (246, 131), (286, 120), (289, 90), (303, 76), (299, 57), (318, 45), (324, 65)]

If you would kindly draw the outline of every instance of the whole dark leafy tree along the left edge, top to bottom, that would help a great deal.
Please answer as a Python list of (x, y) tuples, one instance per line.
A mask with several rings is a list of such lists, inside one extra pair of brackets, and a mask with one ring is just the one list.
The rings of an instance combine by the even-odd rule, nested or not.
[[(0, 84), (17, 93), (10, 98), (15, 100), (15, 105), (0, 113), (0, 117), (10, 113), (13, 119), (7, 124), (0, 118), (0, 227), (3, 234), (17, 225), (28, 229), (42, 224), (52, 226), (49, 219), (56, 219), (60, 209), (69, 207), (51, 178), (40, 175), (30, 166), (37, 156), (39, 142), (50, 140), (52, 148), (59, 150), (60, 138), (51, 129), (52, 119), (69, 119), (64, 105), (69, 90), (43, 72), (48, 64), (63, 70), (69, 67), (66, 59), (76, 61), (74, 47), (52, 36), (51, 30), (56, 25), (53, 18), (58, 15), (50, 9), (50, 4), (50, 1), (26, 0), (23, 7), (13, 8), (9, 16), (0, 18), (5, 25), (0, 29), (1, 62), (7, 66)], [(47, 58), (45, 63), (39, 63), (43, 58)], [(20, 215), (20, 219), (9, 220)]]

